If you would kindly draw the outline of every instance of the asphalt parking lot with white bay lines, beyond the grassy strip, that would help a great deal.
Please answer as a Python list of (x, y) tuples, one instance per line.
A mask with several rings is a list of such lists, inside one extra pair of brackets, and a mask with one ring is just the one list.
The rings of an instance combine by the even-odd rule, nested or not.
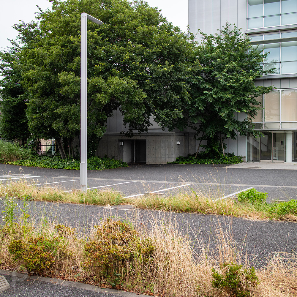
[[(89, 170), (88, 188), (113, 188), (123, 192), (126, 197), (144, 192), (168, 194), (195, 190), (220, 198), (238, 190), (255, 187), (258, 191), (268, 193), (267, 202), (271, 199), (289, 200), (297, 198), (297, 166), (292, 164), (289, 164), (289, 169), (286, 163), (270, 163), (267, 169), (263, 169), (268, 166), (267, 163), (215, 167), (194, 164), (130, 165), (128, 168)], [(28, 182), (34, 179), (34, 183), (41, 187), (56, 186), (68, 191), (80, 188), (79, 170), (0, 164), (0, 181), (8, 182), (11, 178), (26, 178)]]

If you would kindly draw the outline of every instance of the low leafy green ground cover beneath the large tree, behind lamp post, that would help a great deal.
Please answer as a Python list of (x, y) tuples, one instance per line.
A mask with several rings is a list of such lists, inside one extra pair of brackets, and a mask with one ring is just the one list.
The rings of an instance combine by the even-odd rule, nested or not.
[[(72, 158), (61, 159), (60, 156), (44, 156), (26, 160), (17, 160), (9, 162), (12, 165), (29, 166), (29, 167), (41, 167), (41, 168), (54, 168), (54, 169), (80, 169), (80, 161)], [(99, 158), (91, 157), (87, 161), (88, 170), (103, 170), (110, 168), (127, 167), (128, 164), (123, 161), (111, 159), (108, 157)]]

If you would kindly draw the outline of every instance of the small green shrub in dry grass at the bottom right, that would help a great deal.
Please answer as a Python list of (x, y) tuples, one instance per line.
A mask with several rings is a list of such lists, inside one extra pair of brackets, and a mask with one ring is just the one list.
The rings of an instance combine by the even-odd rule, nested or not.
[(224, 263), (221, 265), (222, 273), (211, 268), (211, 285), (220, 289), (222, 296), (250, 296), (250, 287), (257, 287), (258, 278), (255, 267), (242, 269), (242, 265)]

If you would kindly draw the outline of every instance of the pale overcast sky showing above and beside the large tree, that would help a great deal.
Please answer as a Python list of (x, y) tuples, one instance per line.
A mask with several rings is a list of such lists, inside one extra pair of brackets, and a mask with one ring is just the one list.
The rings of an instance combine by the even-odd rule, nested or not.
[[(158, 7), (162, 14), (171, 22), (173, 26), (178, 26), (182, 31), (186, 31), (188, 26), (188, 1), (184, 0), (146, 0), (150, 6)], [(25, 23), (34, 20), (35, 12), (38, 11), (36, 5), (42, 10), (51, 8), (51, 3), (47, 0), (0, 0), (0, 50), (10, 46), (7, 39), (14, 39), (16, 31), (12, 29), (15, 23), (20, 20)]]

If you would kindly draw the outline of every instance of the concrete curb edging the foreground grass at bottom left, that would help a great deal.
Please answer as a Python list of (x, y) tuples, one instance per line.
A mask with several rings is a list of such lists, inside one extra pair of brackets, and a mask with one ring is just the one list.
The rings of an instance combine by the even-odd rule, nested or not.
[[(22, 274), (22, 273), (19, 273), (19, 272), (12, 272), (12, 271), (3, 270), (3, 269), (0, 269), (0, 274), (14, 275), (15, 277), (23, 278), (23, 279), (24, 279), (24, 276), (25, 276), (25, 274)], [(99, 292), (99, 293), (106, 293), (106, 294), (115, 295), (115, 296), (147, 297), (147, 295), (143, 295), (143, 294), (119, 291), (119, 290), (108, 289), (108, 288), (101, 289), (101, 288), (99, 288), (97, 286), (94, 286), (94, 285), (83, 284), (83, 283), (80, 283), (80, 282), (71, 282), (71, 281), (68, 281), (68, 280), (62, 280), (62, 279), (56, 279), (56, 278), (50, 278), (50, 277), (40, 277), (40, 276), (37, 276), (37, 275), (33, 275), (33, 276), (28, 276), (27, 275), (26, 279), (31, 279), (33, 281), (47, 282), (47, 283), (56, 284), (56, 285), (63, 285), (63, 286), (67, 286), (67, 287), (75, 287), (75, 288), (78, 288), (78, 289), (95, 291), (95, 292)]]

